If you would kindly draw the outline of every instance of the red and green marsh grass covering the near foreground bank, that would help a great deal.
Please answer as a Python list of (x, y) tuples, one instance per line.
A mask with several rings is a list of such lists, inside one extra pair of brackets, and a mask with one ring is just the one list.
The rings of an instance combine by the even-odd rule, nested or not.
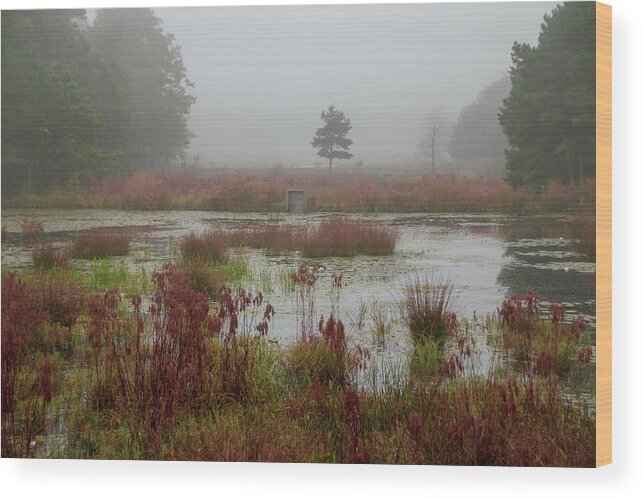
[[(228, 286), (212, 302), (172, 264), (152, 276), (150, 307), (83, 289), (67, 326), (34, 298), (61, 288), (32, 286), (46, 274), (3, 273), (3, 456), (52, 455), (61, 431), (53, 455), (68, 458), (594, 465), (595, 418), (562, 395), (562, 373), (537, 361), (466, 373), (462, 331), (414, 342), (417, 367), (371, 359), (335, 317), (282, 348), (261, 294)], [(550, 310), (547, 334), (571, 334), (564, 319)], [(497, 334), (532, 327), (520, 324), (499, 320)]]

